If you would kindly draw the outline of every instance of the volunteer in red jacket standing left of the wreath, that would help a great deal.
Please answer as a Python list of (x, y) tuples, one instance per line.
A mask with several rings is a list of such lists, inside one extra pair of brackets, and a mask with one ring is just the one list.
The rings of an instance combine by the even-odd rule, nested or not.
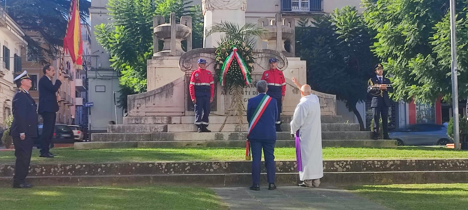
[(211, 132), (208, 126), (210, 103), (214, 97), (214, 81), (211, 71), (206, 70), (206, 60), (198, 59), (198, 69), (190, 77), (190, 98), (195, 105), (195, 125), (198, 133)]

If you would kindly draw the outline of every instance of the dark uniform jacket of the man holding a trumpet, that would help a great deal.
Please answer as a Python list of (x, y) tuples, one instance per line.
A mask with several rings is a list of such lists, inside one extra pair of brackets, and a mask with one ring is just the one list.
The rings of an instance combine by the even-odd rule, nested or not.
[[(388, 98), (388, 93), (393, 92), (393, 87), (388, 87), (387, 90), (379, 90), (379, 88), (373, 88), (373, 84), (380, 84), (377, 76), (372, 77), (367, 82), (367, 93), (372, 95), (371, 107), (387, 106), (390, 107), (391, 101)], [(382, 77), (382, 84), (390, 84), (388, 78)]]

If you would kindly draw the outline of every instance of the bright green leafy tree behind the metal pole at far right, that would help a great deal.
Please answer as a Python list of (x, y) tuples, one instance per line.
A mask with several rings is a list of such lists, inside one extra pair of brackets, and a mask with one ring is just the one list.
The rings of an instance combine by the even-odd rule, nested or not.
[[(372, 49), (393, 77), (394, 100), (452, 101), (448, 1), (363, 0), (364, 17), (377, 31)], [(468, 96), (467, 0), (457, 1), (459, 97)], [(463, 8), (463, 9), (461, 9)]]

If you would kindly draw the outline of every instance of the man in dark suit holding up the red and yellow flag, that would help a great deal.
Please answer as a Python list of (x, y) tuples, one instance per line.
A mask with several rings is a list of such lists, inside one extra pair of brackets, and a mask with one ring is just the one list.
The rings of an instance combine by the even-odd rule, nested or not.
[(53, 158), (54, 155), (49, 151), (52, 141), (52, 135), (55, 130), (55, 119), (59, 111), (60, 96), (56, 93), (64, 81), (64, 77), (59, 73), (59, 79), (52, 84), (52, 78), (55, 76), (55, 69), (51, 65), (46, 65), (42, 69), (44, 76), (39, 80), (39, 114), (44, 119), (44, 126), (41, 134), (41, 151), (39, 157)]

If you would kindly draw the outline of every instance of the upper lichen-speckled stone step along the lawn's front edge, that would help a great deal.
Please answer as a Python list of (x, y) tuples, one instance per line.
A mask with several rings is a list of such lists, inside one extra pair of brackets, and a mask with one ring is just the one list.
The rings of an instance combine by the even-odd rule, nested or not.
[[(176, 161), (132, 163), (31, 164), (29, 176), (105, 176), (250, 173), (251, 161)], [(263, 161), (262, 161), (262, 165)], [(276, 172), (296, 173), (296, 161), (275, 161)], [(440, 165), (440, 166), (439, 166)], [(441, 167), (442, 166), (442, 167)], [(262, 173), (266, 173), (264, 167)], [(323, 161), (323, 171), (396, 172), (467, 171), (468, 159), (455, 160), (347, 160)], [(15, 173), (15, 164), (0, 165), (0, 176)]]

